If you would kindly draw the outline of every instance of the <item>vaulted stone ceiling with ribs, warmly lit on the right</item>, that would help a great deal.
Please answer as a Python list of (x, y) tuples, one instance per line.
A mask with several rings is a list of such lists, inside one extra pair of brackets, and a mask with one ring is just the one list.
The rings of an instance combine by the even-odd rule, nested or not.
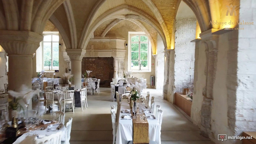
[[(85, 49), (94, 36), (104, 37), (115, 26), (134, 23), (156, 42), (157, 34), (165, 49), (171, 49), (173, 22), (181, 0), (66, 0), (50, 17), (68, 49)], [(193, 10), (202, 32), (209, 28), (206, 0), (184, 0)], [(200, 4), (200, 6), (198, 6)], [(203, 14), (201, 14), (203, 13)], [(203, 15), (203, 16), (199, 16)], [(123, 20), (125, 19), (125, 20)], [(135, 28), (134, 28), (135, 29)], [(137, 28), (136, 28), (137, 29)], [(155, 53), (156, 44), (152, 52)]]

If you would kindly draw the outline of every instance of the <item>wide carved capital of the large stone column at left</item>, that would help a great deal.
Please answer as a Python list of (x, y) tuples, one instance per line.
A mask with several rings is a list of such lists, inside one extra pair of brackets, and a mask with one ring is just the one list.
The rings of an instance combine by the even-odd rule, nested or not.
[(8, 55), (33, 55), (43, 38), (43, 35), (30, 31), (0, 30), (0, 45)]

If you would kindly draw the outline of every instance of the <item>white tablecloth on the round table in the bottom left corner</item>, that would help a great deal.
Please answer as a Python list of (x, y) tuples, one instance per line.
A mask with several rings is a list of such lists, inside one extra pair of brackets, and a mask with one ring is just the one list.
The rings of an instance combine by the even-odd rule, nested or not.
[[(57, 130), (59, 125), (61, 125), (60, 129)], [(57, 124), (54, 124), (54, 125), (49, 125), (45, 130), (35, 130), (35, 131), (25, 133), (22, 136), (20, 136), (13, 144), (33, 143), (38, 134), (40, 136), (44, 136), (44, 135), (56, 134), (58, 132), (61, 133), (61, 141), (65, 141), (66, 127), (64, 125), (62, 125), (61, 123), (57, 123)]]

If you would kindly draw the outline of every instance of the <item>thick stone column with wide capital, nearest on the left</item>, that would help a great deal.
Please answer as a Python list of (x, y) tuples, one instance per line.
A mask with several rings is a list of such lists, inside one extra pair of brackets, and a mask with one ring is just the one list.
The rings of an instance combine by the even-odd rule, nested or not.
[(43, 36), (29, 31), (0, 31), (0, 45), (9, 56), (8, 85), (17, 91), (22, 84), (31, 86), (32, 57)]

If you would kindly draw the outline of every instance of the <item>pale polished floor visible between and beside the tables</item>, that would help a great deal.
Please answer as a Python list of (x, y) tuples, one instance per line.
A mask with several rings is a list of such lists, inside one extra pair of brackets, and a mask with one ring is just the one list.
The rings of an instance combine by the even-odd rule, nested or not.
[[(71, 128), (71, 144), (111, 144), (113, 142), (110, 105), (110, 88), (101, 88), (101, 94), (89, 95), (87, 109), (75, 109), (65, 112), (65, 122), (68, 117), (73, 117)], [(163, 100), (162, 91), (147, 89), (150, 97), (155, 97), (155, 103), (161, 105), (163, 122), (161, 130), (162, 144), (214, 144), (200, 135), (199, 129), (190, 122), (189, 117), (180, 112), (173, 104)], [(146, 92), (146, 91), (145, 91)], [(37, 110), (37, 102), (33, 103)], [(44, 107), (40, 106), (40, 112)]]

